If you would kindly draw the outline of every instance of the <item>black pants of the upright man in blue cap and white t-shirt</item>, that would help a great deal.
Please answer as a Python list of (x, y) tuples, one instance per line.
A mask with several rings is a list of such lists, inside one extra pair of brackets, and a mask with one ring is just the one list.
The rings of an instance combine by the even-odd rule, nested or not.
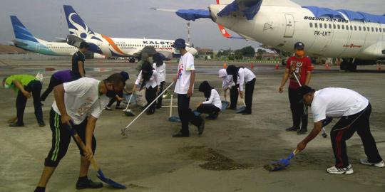
[(190, 97), (188, 97), (187, 94), (178, 94), (178, 114), (180, 122), (182, 122), (182, 129), (180, 129), (182, 134), (190, 134), (188, 130), (189, 122), (197, 127), (202, 124), (202, 118), (195, 116), (191, 111)]

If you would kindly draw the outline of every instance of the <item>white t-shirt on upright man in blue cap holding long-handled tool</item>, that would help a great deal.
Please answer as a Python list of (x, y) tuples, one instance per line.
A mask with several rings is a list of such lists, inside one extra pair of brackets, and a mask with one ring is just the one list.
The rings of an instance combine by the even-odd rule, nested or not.
[(187, 94), (188, 87), (190, 87), (192, 70), (195, 70), (194, 56), (191, 53), (185, 53), (179, 60), (177, 82), (174, 92), (178, 94)]

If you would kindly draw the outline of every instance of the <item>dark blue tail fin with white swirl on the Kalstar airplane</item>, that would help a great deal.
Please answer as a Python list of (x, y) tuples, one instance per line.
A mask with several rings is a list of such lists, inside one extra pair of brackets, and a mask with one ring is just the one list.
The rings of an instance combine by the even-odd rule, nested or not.
[(64, 5), (64, 12), (68, 24), (68, 30), (71, 35), (86, 39), (95, 36), (95, 33), (88, 28), (86, 22), (76, 13), (72, 6)]

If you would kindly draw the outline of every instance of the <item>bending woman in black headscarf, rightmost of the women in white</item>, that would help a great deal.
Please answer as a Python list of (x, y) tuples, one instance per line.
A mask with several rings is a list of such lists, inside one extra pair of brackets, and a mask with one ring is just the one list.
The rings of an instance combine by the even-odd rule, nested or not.
[(245, 104), (246, 110), (242, 114), (252, 114), (252, 94), (255, 86), (255, 75), (251, 70), (245, 67), (227, 66), (226, 72), (232, 75), (232, 80), (237, 84), (239, 78), (240, 97), (243, 99), (243, 85), (245, 84)]

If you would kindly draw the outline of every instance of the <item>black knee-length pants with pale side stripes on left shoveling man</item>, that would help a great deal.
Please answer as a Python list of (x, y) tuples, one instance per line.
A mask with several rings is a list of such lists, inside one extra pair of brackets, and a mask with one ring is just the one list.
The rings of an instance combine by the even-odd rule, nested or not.
[[(53, 109), (49, 114), (49, 125), (52, 131), (52, 146), (48, 152), (48, 156), (44, 161), (44, 166), (56, 167), (58, 163), (66, 155), (68, 145), (71, 142), (71, 134), (68, 131), (66, 124), (61, 124), (61, 115), (57, 114)], [(86, 144), (86, 125), (87, 119), (84, 119), (81, 124), (73, 124), (72, 128), (76, 130), (81, 140)], [(80, 154), (83, 156), (83, 150), (78, 146)], [(95, 154), (96, 139), (92, 136), (92, 151)]]

